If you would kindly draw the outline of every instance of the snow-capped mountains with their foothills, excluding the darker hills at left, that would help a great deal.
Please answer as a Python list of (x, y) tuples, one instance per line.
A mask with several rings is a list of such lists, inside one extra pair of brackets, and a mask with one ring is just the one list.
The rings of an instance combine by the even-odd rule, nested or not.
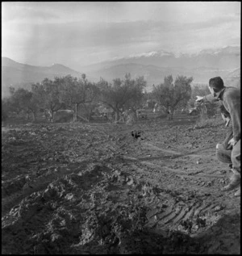
[(226, 78), (231, 72), (240, 69), (240, 47), (207, 49), (198, 54), (174, 54), (173, 52), (146, 52), (140, 55), (104, 61), (94, 65), (82, 66), (81, 70), (89, 76), (123, 78), (131, 73), (136, 78), (144, 75), (148, 87), (160, 84), (165, 76), (172, 74), (194, 78), (194, 83), (207, 83), (215, 76)]

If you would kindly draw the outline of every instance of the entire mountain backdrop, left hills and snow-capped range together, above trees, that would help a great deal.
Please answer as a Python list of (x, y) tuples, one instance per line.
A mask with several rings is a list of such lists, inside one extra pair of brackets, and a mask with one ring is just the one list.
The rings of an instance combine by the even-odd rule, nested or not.
[(86, 73), (88, 80), (98, 82), (102, 77), (108, 82), (115, 78), (144, 76), (148, 82), (147, 90), (158, 85), (169, 74), (193, 77), (194, 83), (206, 83), (215, 76), (221, 76), (227, 86), (240, 85), (240, 47), (207, 49), (198, 54), (180, 54), (173, 52), (145, 52), (139, 55), (103, 61), (94, 65), (80, 67), (81, 72), (69, 69), (65, 65), (53, 64), (49, 67), (22, 64), (2, 57), (2, 97), (9, 94), (9, 86), (31, 88), (31, 84), (44, 78), (53, 79), (65, 75), (81, 78)]

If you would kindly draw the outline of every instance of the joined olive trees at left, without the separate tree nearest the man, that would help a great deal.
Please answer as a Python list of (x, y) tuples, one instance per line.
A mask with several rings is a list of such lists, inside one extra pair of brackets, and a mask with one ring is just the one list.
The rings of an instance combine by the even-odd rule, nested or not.
[(10, 97), (2, 99), (2, 119), (10, 112), (19, 115), (23, 111), (32, 114), (35, 120), (37, 112), (48, 111), (53, 120), (55, 111), (72, 109), (76, 121), (78, 111), (85, 112), (86, 116), (82, 118), (88, 119), (94, 108), (102, 104), (111, 108), (118, 120), (123, 109), (136, 109), (142, 105), (145, 86), (143, 77), (132, 79), (130, 74), (112, 83), (102, 78), (97, 83), (90, 82), (85, 74), (79, 79), (70, 75), (56, 77), (53, 81), (45, 78), (43, 82), (33, 84), (31, 90), (10, 87)]

